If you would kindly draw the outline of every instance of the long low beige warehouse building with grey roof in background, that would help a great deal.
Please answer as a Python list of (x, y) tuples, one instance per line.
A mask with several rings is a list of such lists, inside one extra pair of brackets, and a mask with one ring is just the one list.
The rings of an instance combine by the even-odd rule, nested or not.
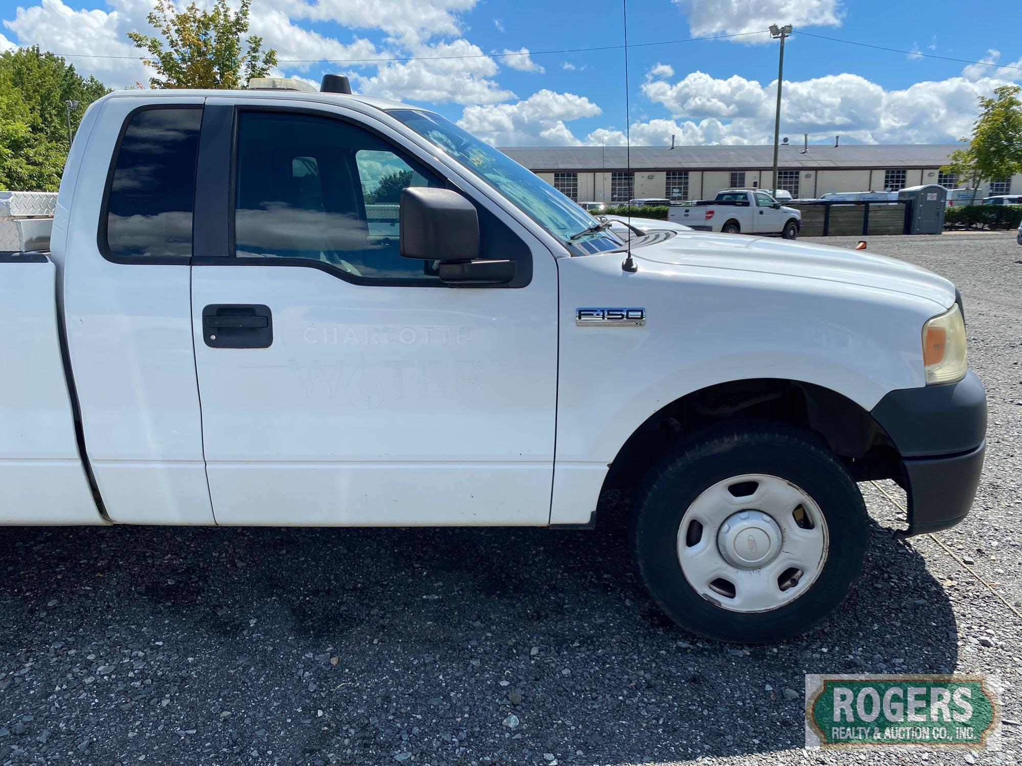
[[(904, 186), (966, 179), (940, 172), (957, 144), (847, 144), (807, 148), (785, 144), (778, 159), (778, 187), (793, 197), (827, 192), (896, 191)], [(543, 146), (502, 149), (577, 202), (626, 202), (635, 197), (672, 201), (705, 199), (730, 187), (769, 188), (773, 146), (632, 147), (628, 173), (622, 146)], [(961, 182), (961, 183), (960, 183)], [(983, 182), (979, 196), (1022, 193), (1022, 175)]]

